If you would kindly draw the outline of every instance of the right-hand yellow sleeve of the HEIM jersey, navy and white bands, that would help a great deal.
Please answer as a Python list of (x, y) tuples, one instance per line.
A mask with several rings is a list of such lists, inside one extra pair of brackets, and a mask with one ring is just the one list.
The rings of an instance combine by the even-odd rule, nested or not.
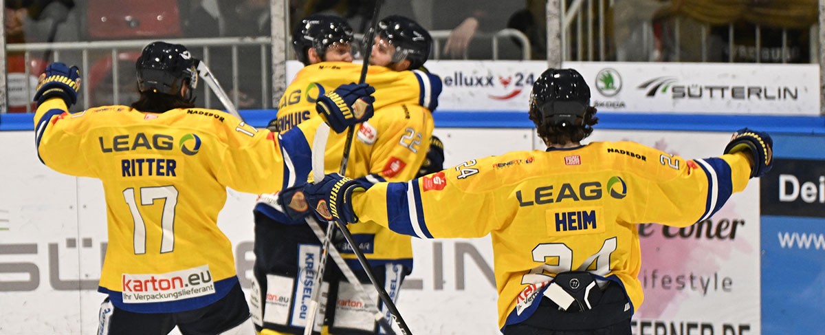
[(689, 160), (649, 150), (647, 156), (658, 158), (659, 166), (628, 178), (627, 187), (640, 191), (620, 212), (625, 222), (686, 227), (714, 215), (750, 178), (746, 153)]

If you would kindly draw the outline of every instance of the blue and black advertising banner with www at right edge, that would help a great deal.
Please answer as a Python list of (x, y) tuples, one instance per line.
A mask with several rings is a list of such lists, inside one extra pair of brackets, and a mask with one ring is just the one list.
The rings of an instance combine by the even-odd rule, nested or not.
[(818, 333), (825, 327), (825, 138), (774, 141), (778, 158), (760, 180), (762, 333)]

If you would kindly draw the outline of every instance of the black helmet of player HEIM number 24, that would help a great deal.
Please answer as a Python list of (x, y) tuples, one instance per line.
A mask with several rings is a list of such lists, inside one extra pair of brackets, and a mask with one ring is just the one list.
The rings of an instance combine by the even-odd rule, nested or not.
[(589, 104), (590, 87), (573, 68), (548, 68), (530, 93), (530, 114), (541, 125), (582, 125)]

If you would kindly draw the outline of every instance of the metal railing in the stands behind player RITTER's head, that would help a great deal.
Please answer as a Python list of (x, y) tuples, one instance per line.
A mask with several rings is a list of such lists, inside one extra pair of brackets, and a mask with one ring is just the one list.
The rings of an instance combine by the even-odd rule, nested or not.
[[(59, 61), (61, 54), (65, 54), (67, 52), (80, 52), (81, 54), (81, 76), (82, 78), (89, 78), (89, 71), (91, 70), (90, 61), (91, 55), (90, 53), (93, 50), (108, 50), (108, 57), (111, 57), (111, 79), (112, 79), (112, 102), (116, 104), (120, 104), (120, 71), (119, 71), (119, 54), (121, 51), (140, 51), (149, 43), (152, 43), (156, 40), (106, 40), (106, 41), (92, 41), (92, 42), (68, 42), (68, 43), (28, 43), (28, 44), (12, 44), (6, 45), (7, 53), (13, 52), (22, 52), (24, 54), (24, 62), (26, 66), (25, 68), (25, 77), (26, 77), (26, 97), (28, 97), (28, 101), (31, 101), (32, 98), (32, 91), (33, 87), (31, 87), (30, 78), (31, 76), (31, 54), (33, 52), (45, 52), (51, 51), (54, 57), (54, 61)], [(231, 91), (230, 97), (233, 100), (233, 103), (238, 106), (239, 102), (239, 94), (237, 87), (239, 87), (240, 80), (251, 80), (252, 78), (240, 78), (238, 74), (238, 48), (244, 46), (258, 46), (260, 48), (260, 66), (262, 69), (270, 68), (270, 60), (268, 59), (268, 49), (271, 46), (271, 38), (269, 36), (263, 37), (221, 37), (221, 38), (209, 38), (209, 39), (171, 39), (171, 40), (164, 40), (167, 43), (173, 44), (181, 44), (186, 45), (186, 48), (190, 50), (193, 55), (196, 55), (200, 52), (201, 56), (200, 59), (205, 62), (205, 64), (209, 65), (212, 68), (213, 72), (215, 68), (223, 67), (225, 64), (212, 64), (210, 63), (211, 60), (211, 52), (217, 48), (229, 48), (231, 52), (231, 57), (229, 61), (229, 66), (231, 66), (231, 78), (218, 78), (219, 81), (224, 82), (224, 87), (236, 87)], [(98, 57), (106, 57), (101, 56), (101, 54), (97, 54)], [(134, 64), (134, 63), (133, 63)], [(71, 64), (69, 64), (71, 65)], [(269, 102), (271, 101), (269, 95), (269, 88), (267, 86), (268, 83), (268, 71), (262, 70), (261, 73), (261, 103), (262, 108), (268, 108)], [(205, 86), (205, 85), (204, 85)], [(82, 99), (82, 108), (88, 109), (90, 106), (90, 89), (89, 85), (82, 85), (81, 84), (81, 97)], [(212, 107), (212, 95), (211, 94), (204, 94), (205, 96), (205, 106), (206, 108)], [(220, 106), (223, 107), (223, 106)], [(31, 112), (31, 106), (26, 104), (26, 112)]]

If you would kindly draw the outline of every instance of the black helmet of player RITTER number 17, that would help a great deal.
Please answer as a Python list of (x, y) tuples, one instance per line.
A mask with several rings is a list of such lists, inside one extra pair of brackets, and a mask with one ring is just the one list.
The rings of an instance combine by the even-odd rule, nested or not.
[[(138, 90), (176, 95), (184, 81), (194, 90), (198, 85), (196, 59), (183, 45), (153, 42), (146, 45), (135, 63)], [(191, 94), (191, 90), (190, 90)]]

